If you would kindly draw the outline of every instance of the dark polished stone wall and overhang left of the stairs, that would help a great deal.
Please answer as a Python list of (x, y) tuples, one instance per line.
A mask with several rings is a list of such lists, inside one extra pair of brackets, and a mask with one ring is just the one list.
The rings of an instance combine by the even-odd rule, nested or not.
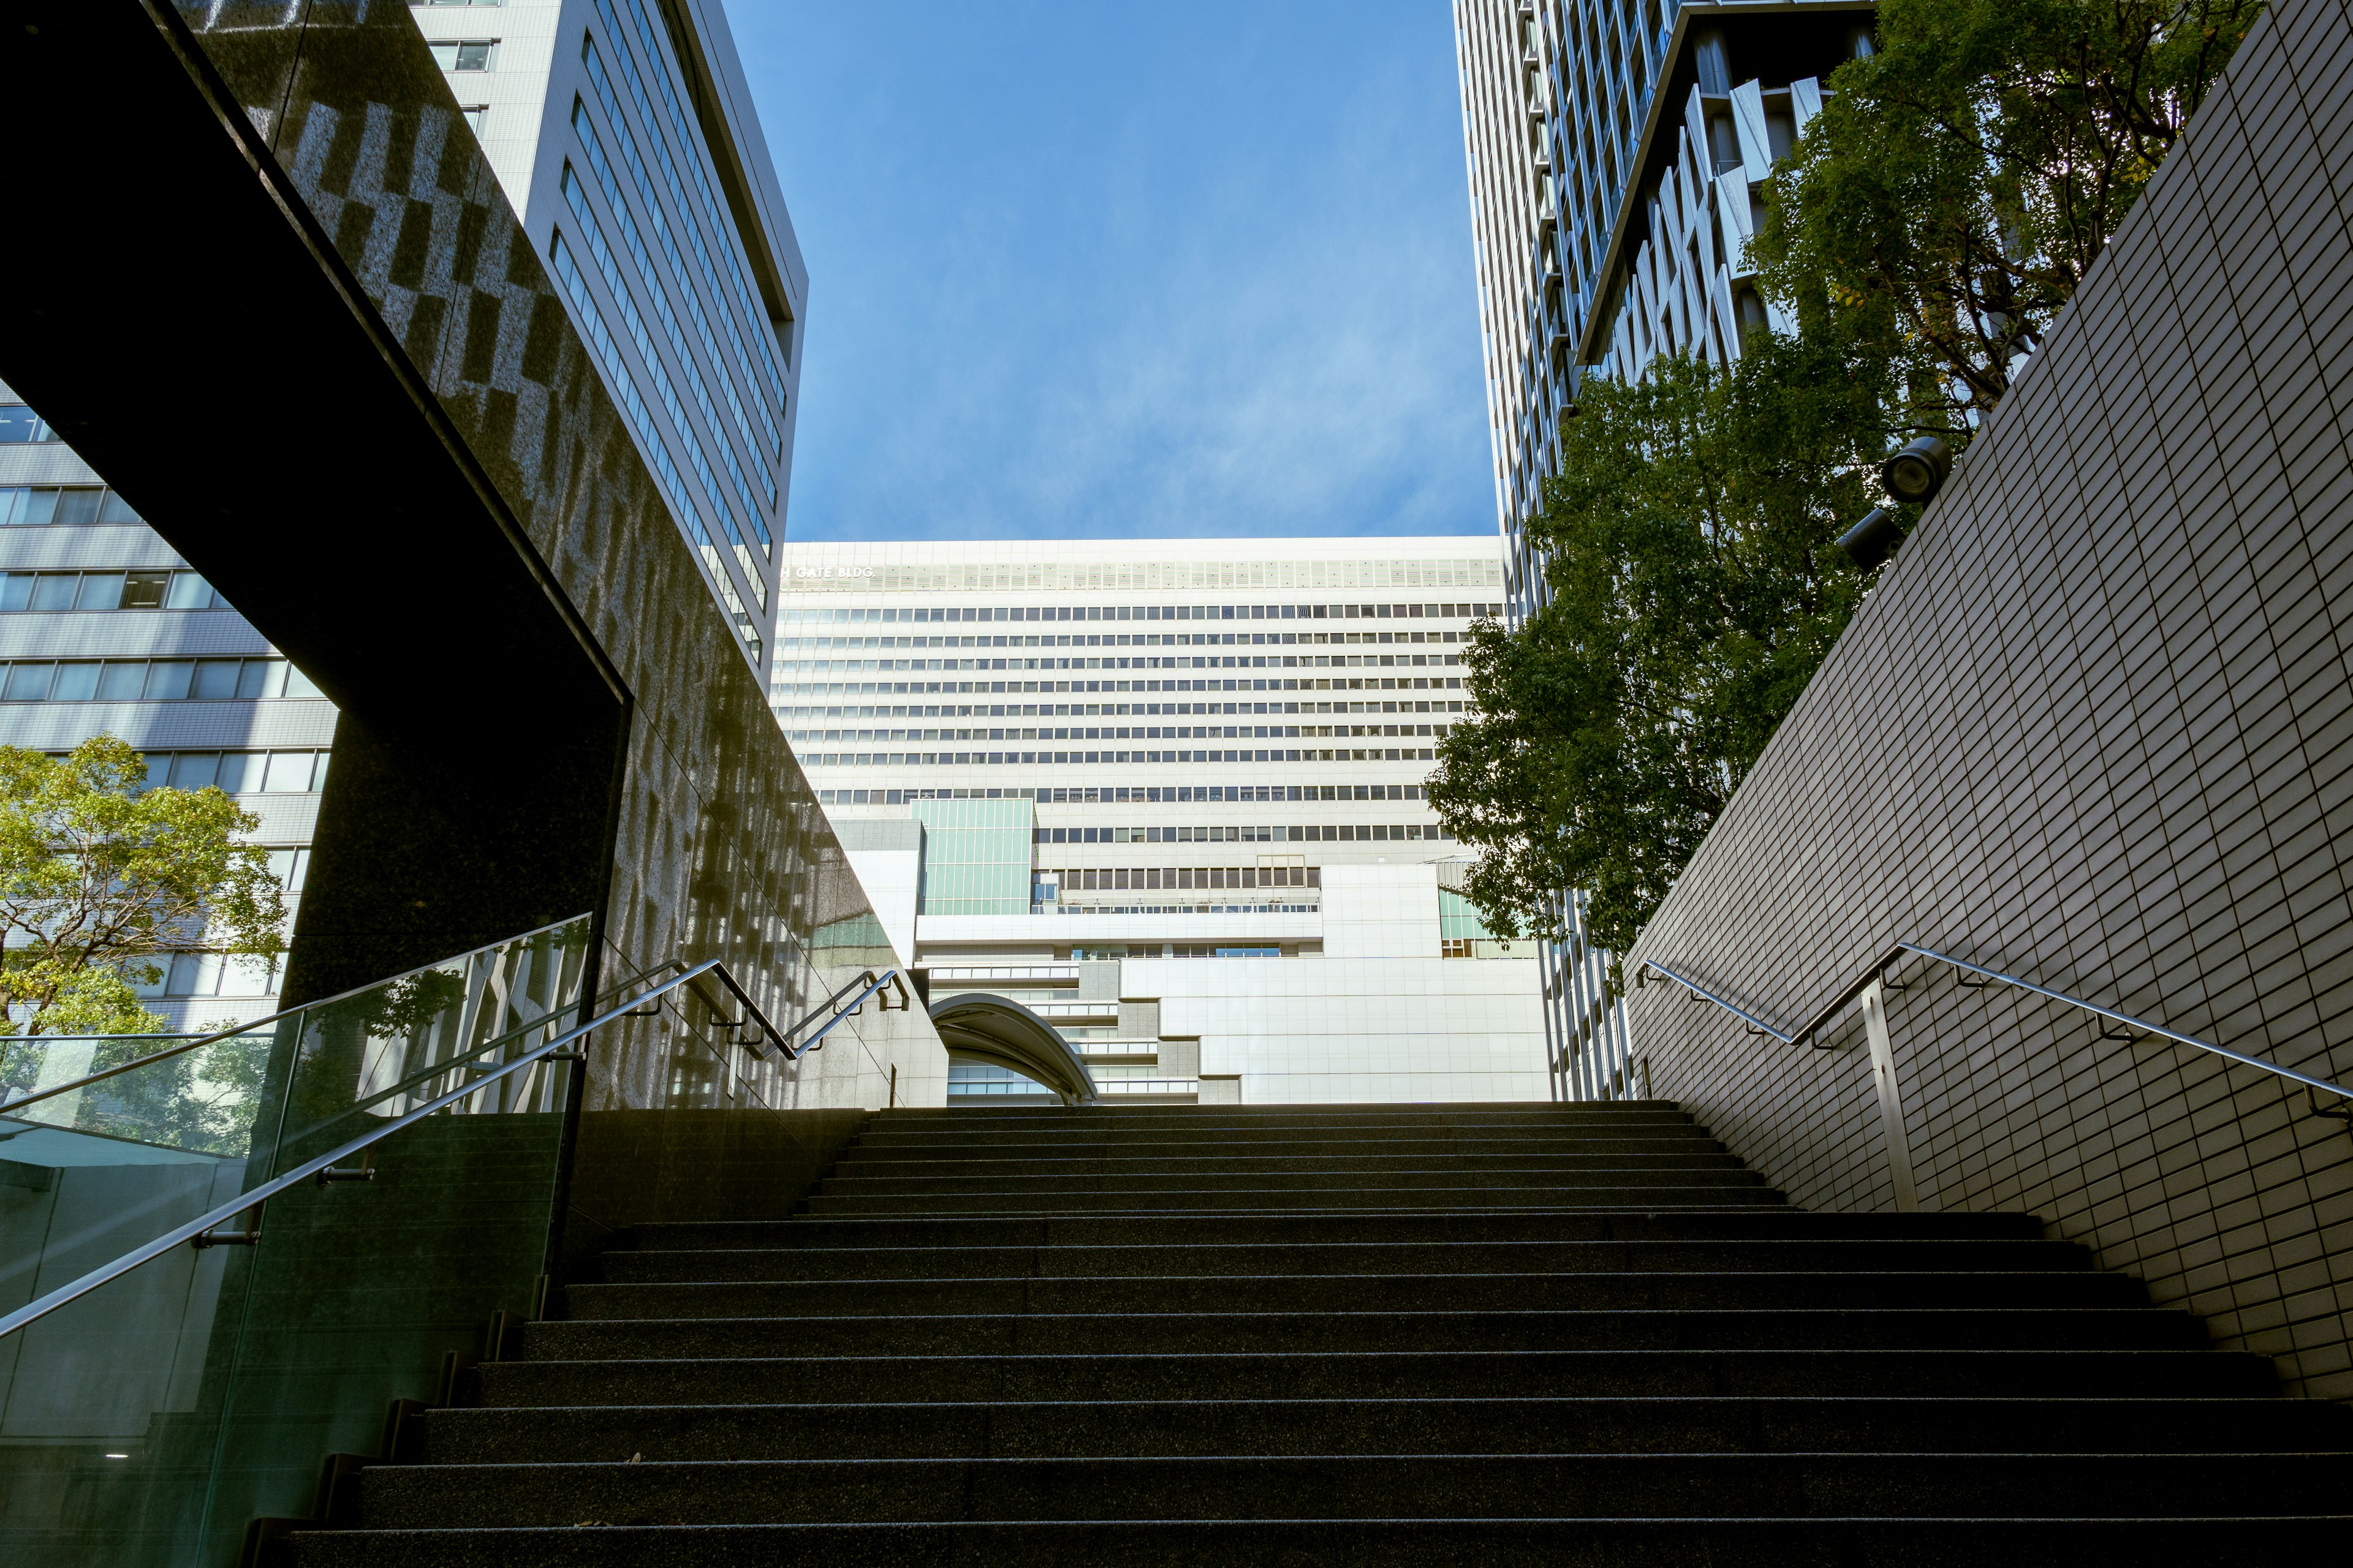
[[(0, 52), (87, 127), (16, 186), (78, 244), (0, 261), (0, 369), (344, 712), (287, 1001), (581, 910), (605, 983), (725, 957), (776, 1020), (887, 966), (407, 7), (106, 0)], [(73, 113), (99, 61), (139, 115)], [(635, 1027), (598, 1103), (661, 1100)], [(769, 1098), (944, 1095), (920, 1009), (835, 1044)]]

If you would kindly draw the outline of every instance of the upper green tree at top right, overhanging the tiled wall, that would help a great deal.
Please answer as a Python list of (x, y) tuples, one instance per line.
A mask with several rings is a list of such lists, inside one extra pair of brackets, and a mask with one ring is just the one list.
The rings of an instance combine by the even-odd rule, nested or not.
[(2181, 139), (2261, 0), (1885, 0), (1774, 172), (1765, 289), (1965, 433)]

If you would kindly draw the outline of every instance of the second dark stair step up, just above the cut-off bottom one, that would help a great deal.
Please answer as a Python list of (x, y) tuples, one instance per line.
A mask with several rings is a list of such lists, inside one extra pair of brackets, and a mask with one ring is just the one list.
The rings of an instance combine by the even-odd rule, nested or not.
[[(1134, 1519), (1981, 1519), (2353, 1505), (2353, 1453), (1414, 1453), (379, 1465), (372, 1528)], [(2308, 1507), (2308, 1505), (2306, 1505)]]

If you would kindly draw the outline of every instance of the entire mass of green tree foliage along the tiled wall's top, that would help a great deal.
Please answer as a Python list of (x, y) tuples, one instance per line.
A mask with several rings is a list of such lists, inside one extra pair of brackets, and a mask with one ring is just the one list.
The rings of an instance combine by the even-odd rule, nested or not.
[[(1431, 780), (1499, 933), (1586, 891), (1624, 952), (1831, 651), (1833, 541), (1906, 437), (1955, 449), (2181, 139), (2261, 0), (1885, 0), (1774, 172), (1753, 261), (1798, 336), (1586, 378), (1529, 524), (1551, 602), (1466, 649)], [(1908, 517), (1904, 517), (1908, 522)]]

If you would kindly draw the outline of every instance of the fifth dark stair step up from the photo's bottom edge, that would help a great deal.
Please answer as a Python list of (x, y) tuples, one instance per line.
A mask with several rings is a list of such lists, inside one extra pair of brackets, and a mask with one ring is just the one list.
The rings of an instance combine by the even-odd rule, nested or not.
[[(2193, 1349), (2205, 1324), (2148, 1307), (1981, 1307), (1821, 1312), (1108, 1312), (781, 1316), (765, 1284), (605, 1286), (593, 1309), (532, 1324), (532, 1356), (953, 1356), (1367, 1349)], [(656, 1309), (668, 1309), (668, 1316)]]

